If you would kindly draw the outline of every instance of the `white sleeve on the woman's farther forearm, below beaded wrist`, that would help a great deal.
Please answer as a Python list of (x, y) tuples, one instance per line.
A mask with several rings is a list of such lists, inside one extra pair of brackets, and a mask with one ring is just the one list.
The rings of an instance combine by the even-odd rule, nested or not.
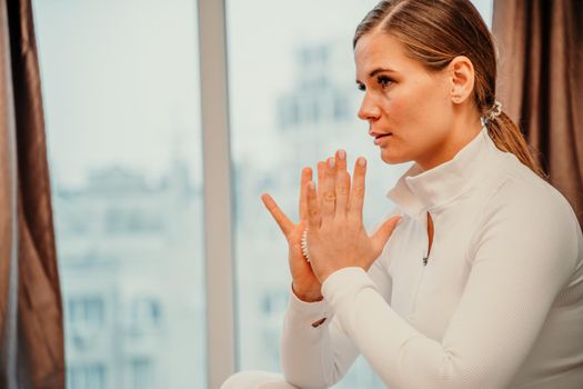
[[(388, 303), (391, 278), (383, 257), (371, 267), (368, 278)], [(312, 326), (322, 318), (326, 318), (323, 323)], [(326, 388), (346, 373), (358, 356), (358, 348), (333, 317), (328, 301), (304, 302), (291, 292), (281, 341), (281, 361), (288, 382), (300, 388)]]

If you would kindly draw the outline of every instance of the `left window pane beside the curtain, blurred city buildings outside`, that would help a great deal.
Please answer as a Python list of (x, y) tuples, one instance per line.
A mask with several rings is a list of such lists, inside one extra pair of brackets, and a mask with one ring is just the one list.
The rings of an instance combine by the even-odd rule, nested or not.
[(34, 0), (68, 388), (203, 388), (195, 0)]

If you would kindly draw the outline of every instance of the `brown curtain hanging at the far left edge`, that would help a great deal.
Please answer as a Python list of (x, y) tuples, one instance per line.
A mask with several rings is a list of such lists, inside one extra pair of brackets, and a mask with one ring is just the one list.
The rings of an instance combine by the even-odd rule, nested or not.
[(64, 388), (62, 306), (30, 0), (0, 0), (1, 388)]

